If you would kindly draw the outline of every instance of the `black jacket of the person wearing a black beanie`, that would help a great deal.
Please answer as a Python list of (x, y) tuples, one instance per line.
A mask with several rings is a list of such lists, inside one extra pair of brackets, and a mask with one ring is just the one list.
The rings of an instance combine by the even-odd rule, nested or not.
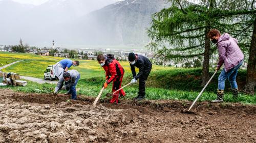
[[(133, 77), (137, 80), (144, 74), (146, 75), (150, 74), (152, 64), (150, 60), (148, 60), (145, 56), (138, 55), (138, 54), (136, 54), (136, 56), (138, 57), (136, 63), (134, 65), (130, 64), (130, 66), (133, 73)], [(139, 68), (139, 73), (137, 75), (136, 75), (135, 67)]]

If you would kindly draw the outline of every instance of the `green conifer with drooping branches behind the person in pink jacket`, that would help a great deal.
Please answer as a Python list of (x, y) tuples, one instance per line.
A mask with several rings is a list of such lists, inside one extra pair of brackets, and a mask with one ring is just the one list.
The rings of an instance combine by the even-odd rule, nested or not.
[[(254, 14), (253, 10), (236, 10), (229, 7), (220, 8), (233, 3), (231, 0), (202, 0), (199, 4), (187, 1), (172, 0), (172, 6), (162, 9), (153, 15), (152, 26), (148, 36), (152, 42), (147, 47), (156, 52), (162, 59), (187, 59), (204, 56), (202, 69), (202, 85), (209, 79), (209, 56), (216, 51), (211, 47), (207, 33), (211, 28), (233, 31), (237, 26), (229, 26), (241, 14)], [(223, 22), (223, 23), (220, 23)], [(166, 46), (167, 45), (167, 46)]]

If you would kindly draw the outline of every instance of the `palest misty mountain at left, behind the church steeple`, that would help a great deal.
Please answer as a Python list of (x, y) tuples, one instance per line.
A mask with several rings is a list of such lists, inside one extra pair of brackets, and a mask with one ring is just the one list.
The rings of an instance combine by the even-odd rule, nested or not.
[(0, 1), (0, 43), (17, 44), (22, 37), (31, 45), (48, 46), (53, 39), (65, 44), (59, 27), (117, 1), (49, 0), (39, 6)]

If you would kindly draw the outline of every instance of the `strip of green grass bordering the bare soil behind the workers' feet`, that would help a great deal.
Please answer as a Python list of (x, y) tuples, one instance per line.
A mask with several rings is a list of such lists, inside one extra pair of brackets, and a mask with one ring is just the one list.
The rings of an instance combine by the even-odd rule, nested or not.
[[(84, 79), (85, 80), (85, 79)], [(80, 80), (76, 88), (80, 88), (80, 91), (77, 92), (78, 95), (96, 97), (101, 89), (101, 82), (88, 81), (84, 82)], [(102, 78), (103, 81), (103, 78)], [(0, 87), (13, 89), (17, 92), (27, 92), (27, 93), (46, 93), (50, 94), (53, 92), (55, 85), (54, 84), (38, 84), (35, 82), (28, 81), (26, 87)], [(104, 90), (101, 98), (105, 97), (106, 93), (111, 92), (111, 85), (108, 89)], [(124, 89), (126, 92), (126, 99), (132, 99), (137, 96), (138, 93), (138, 83), (131, 85)], [(59, 93), (66, 93), (66, 91), (60, 91)], [(198, 96), (199, 92), (197, 91), (180, 91), (180, 90), (167, 90), (162, 88), (146, 88), (146, 99), (149, 100), (189, 100), (193, 101)], [(203, 95), (199, 98), (199, 101), (210, 101), (216, 98), (216, 94), (213, 92), (204, 92)], [(239, 102), (244, 104), (256, 104), (256, 96), (250, 96), (245, 94), (240, 94), (238, 99), (233, 99), (231, 93), (225, 93), (224, 97), (225, 102)]]

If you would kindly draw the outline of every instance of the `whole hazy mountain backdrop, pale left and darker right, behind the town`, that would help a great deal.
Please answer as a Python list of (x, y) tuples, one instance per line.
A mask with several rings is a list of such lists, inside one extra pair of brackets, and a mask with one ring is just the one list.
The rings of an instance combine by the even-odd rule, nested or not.
[(39, 6), (0, 1), (0, 43), (144, 46), (151, 16), (166, 0), (49, 0)]

